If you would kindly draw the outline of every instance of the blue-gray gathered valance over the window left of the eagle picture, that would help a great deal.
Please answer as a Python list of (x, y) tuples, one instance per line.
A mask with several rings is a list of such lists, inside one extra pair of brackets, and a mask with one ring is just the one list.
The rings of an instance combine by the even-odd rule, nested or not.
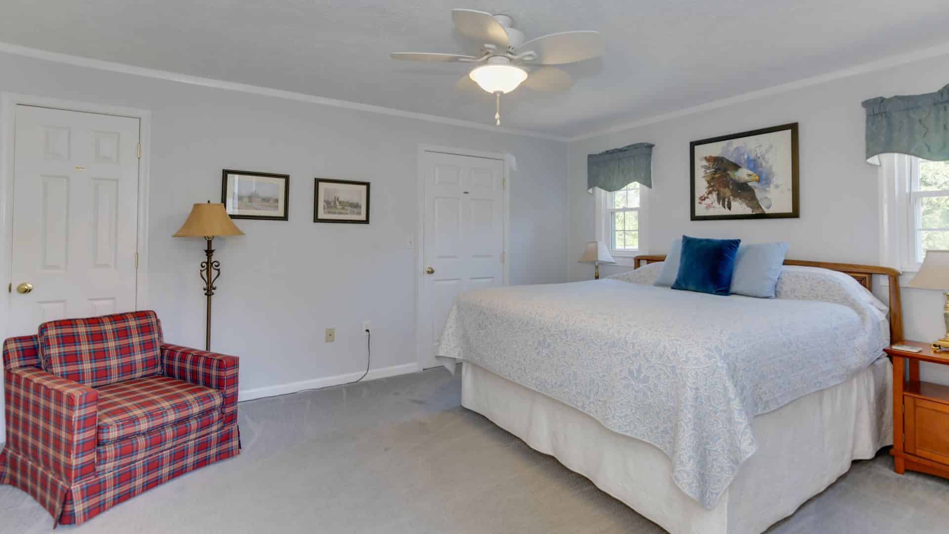
[(599, 154), (586, 155), (586, 192), (594, 187), (619, 191), (638, 181), (652, 187), (653, 143), (636, 143), (613, 148)]

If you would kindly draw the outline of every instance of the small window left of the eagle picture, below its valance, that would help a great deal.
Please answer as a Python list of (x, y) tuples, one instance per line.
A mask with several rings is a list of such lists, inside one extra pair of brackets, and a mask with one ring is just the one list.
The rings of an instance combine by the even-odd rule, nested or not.
[(596, 189), (596, 238), (606, 242), (620, 265), (631, 265), (632, 257), (644, 253), (647, 191), (636, 181), (613, 193)]

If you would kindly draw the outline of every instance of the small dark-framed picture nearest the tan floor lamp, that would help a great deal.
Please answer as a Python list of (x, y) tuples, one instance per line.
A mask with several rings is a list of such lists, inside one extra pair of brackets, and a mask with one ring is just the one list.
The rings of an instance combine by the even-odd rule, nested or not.
[(221, 203), (231, 219), (288, 220), (288, 174), (234, 171), (221, 173)]

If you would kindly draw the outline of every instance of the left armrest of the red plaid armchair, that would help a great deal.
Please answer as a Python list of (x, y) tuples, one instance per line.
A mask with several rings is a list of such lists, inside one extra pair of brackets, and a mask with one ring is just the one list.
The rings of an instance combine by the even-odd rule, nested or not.
[(35, 367), (4, 383), (7, 447), (66, 483), (95, 471), (99, 391)]

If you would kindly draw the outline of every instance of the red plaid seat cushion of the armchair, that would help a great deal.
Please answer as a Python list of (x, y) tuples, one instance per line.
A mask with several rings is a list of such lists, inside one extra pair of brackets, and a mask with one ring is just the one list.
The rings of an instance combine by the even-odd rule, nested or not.
[(99, 388), (99, 445), (220, 411), (220, 391), (170, 376), (147, 376)]

